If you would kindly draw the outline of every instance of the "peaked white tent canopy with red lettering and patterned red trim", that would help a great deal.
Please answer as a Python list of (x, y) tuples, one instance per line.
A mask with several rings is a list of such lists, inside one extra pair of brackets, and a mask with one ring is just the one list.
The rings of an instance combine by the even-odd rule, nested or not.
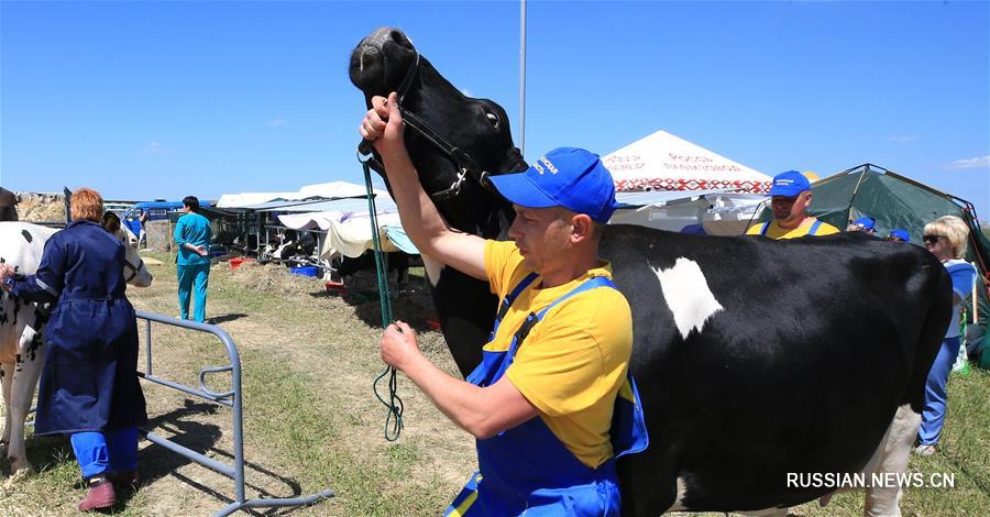
[(727, 189), (763, 194), (771, 177), (666, 131), (605, 155), (618, 191)]

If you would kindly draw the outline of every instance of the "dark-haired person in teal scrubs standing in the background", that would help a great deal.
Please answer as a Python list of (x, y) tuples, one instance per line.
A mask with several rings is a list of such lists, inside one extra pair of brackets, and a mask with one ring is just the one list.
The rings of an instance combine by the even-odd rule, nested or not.
[(210, 277), (210, 221), (199, 213), (199, 199), (186, 196), (183, 215), (175, 226), (175, 245), (178, 248), (176, 272), (179, 283), (179, 315), (189, 319), (189, 297), (196, 288), (196, 306), (193, 319), (206, 320), (206, 288)]

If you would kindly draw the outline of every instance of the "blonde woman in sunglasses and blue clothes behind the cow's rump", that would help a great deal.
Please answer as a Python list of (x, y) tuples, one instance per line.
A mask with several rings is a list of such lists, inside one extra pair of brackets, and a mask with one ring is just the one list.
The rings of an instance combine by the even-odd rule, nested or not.
[(955, 216), (941, 217), (925, 224), (924, 244), (953, 278), (953, 319), (945, 333), (945, 341), (938, 349), (935, 364), (928, 372), (925, 386), (925, 409), (922, 413), (921, 428), (917, 430), (919, 446), (915, 452), (921, 455), (935, 453), (935, 444), (945, 422), (946, 383), (953, 362), (959, 353), (959, 306), (963, 299), (972, 292), (976, 282), (976, 268), (963, 260), (966, 256), (969, 227)]

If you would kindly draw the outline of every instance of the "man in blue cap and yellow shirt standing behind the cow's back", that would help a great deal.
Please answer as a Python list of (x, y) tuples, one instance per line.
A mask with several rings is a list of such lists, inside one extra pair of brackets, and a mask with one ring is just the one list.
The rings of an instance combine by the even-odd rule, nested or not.
[(838, 228), (807, 215), (807, 207), (812, 200), (811, 184), (798, 170), (788, 170), (773, 176), (770, 196), (773, 220), (749, 227), (746, 230), (747, 235), (794, 239), (839, 232)]

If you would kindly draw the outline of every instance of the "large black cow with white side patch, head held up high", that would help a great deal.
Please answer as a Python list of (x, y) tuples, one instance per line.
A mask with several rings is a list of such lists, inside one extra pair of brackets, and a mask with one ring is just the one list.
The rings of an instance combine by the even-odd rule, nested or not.
[[(465, 97), (396, 29), (358, 45), (350, 77), (367, 106), (399, 92), (413, 162), (449, 223), (504, 235), (510, 207), (482, 173), (526, 168), (505, 111)], [(632, 308), (630, 369), (650, 435), (645, 453), (619, 461), (625, 514), (785, 515), (832, 491), (788, 486), (789, 473), (904, 472), (952, 310), (948, 276), (930, 253), (864, 235), (771, 241), (615, 226), (601, 254)], [(466, 374), (496, 300), (486, 284), (424, 260)], [(895, 486), (871, 487), (866, 513), (899, 515), (899, 499)]]

